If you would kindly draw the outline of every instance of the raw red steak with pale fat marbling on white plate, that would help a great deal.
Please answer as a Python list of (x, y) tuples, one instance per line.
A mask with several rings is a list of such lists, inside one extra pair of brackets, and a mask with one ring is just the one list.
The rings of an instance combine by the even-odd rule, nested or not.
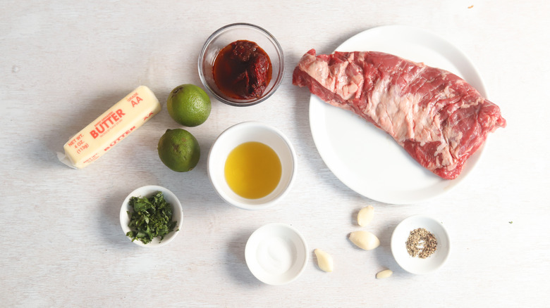
[(383, 129), (444, 179), (458, 177), (487, 135), (506, 126), (499, 106), (464, 79), (388, 53), (317, 56), (312, 49), (296, 66), (293, 84)]

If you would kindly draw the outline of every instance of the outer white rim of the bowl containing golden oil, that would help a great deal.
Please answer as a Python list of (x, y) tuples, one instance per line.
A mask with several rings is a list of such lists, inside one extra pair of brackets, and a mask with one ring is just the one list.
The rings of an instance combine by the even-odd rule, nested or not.
[[(227, 196), (224, 195), (223, 193), (221, 193), (221, 188), (219, 187), (217, 182), (212, 179), (213, 175), (212, 175), (211, 169), (213, 168), (212, 165), (214, 164), (214, 162), (212, 162), (212, 153), (214, 152), (214, 150), (217, 150), (217, 148), (219, 146), (218, 141), (221, 140), (222, 138), (225, 138), (226, 136), (228, 136), (228, 134), (231, 134), (233, 131), (236, 131), (237, 129), (243, 129), (243, 128), (246, 129), (246, 127), (264, 127), (266, 129), (269, 129), (269, 131), (273, 131), (277, 136), (279, 136), (283, 140), (283, 142), (288, 147), (289, 152), (291, 153), (292, 171), (291, 171), (291, 177), (288, 180), (288, 184), (286, 184), (286, 188), (279, 195), (277, 195), (275, 198), (267, 201), (266, 203), (262, 203), (262, 204), (249, 205), (249, 204), (246, 204), (246, 203), (239, 202), (238, 200), (232, 200), (230, 198), (226, 198)], [(218, 145), (218, 146), (216, 146), (216, 145)], [(216, 137), (216, 139), (214, 140), (214, 143), (212, 143), (212, 147), (210, 147), (210, 150), (209, 150), (209, 153), (208, 153), (208, 158), (207, 158), (208, 179), (210, 181), (210, 184), (212, 184), (212, 186), (214, 187), (214, 191), (216, 191), (216, 193), (219, 195), (221, 200), (224, 200), (229, 205), (233, 205), (234, 207), (238, 207), (238, 208), (243, 209), (243, 210), (264, 210), (268, 207), (274, 206), (281, 199), (283, 199), (288, 194), (289, 191), (291, 191), (291, 188), (294, 184), (297, 172), (298, 172), (298, 155), (296, 155), (296, 151), (295, 151), (290, 139), (288, 139), (288, 137), (285, 134), (283, 134), (283, 132), (280, 131), (279, 129), (277, 129), (276, 127), (274, 127), (272, 125), (269, 125), (269, 124), (266, 124), (266, 123), (263, 123), (263, 122), (259, 122), (259, 121), (240, 122), (240, 123), (232, 125), (231, 127), (228, 127), (224, 131), (222, 131), (221, 134), (219, 134), (219, 136)]]

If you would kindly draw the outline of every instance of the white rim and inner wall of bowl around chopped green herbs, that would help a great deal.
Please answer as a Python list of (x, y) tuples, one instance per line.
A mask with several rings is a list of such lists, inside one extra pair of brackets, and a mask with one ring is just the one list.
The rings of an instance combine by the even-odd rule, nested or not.
[[(172, 212), (173, 213), (178, 212), (181, 219), (178, 219), (178, 224), (176, 225), (176, 228), (174, 229), (174, 231), (167, 234), (160, 243), (155, 243), (152, 241), (150, 243), (144, 244), (142, 243), (141, 240), (137, 240), (137, 239), (132, 241), (131, 238), (126, 236), (126, 233), (128, 231), (131, 231), (130, 227), (128, 227), (128, 222), (130, 221), (130, 218), (128, 217), (128, 213), (126, 212), (128, 210), (128, 202), (132, 197), (140, 197), (140, 198), (143, 198), (145, 196), (149, 197), (149, 195), (157, 191), (161, 191), (165, 195), (165, 198), (166, 198), (166, 195), (169, 195), (173, 200), (176, 200), (175, 202), (176, 204), (174, 204), (174, 202), (170, 203), (172, 207)], [(130, 240), (131, 243), (134, 243), (138, 246), (145, 247), (145, 248), (159, 248), (164, 245), (168, 245), (168, 243), (170, 243), (174, 238), (176, 238), (176, 236), (178, 236), (178, 233), (181, 232), (181, 227), (183, 226), (183, 207), (181, 205), (179, 198), (176, 196), (176, 194), (170, 191), (168, 188), (163, 186), (158, 186), (158, 185), (145, 185), (139, 188), (135, 188), (131, 193), (129, 193), (126, 196), (126, 198), (124, 199), (121, 205), (119, 219), (121, 222), (121, 228), (122, 228), (123, 234), (126, 238), (128, 238), (128, 240)]]

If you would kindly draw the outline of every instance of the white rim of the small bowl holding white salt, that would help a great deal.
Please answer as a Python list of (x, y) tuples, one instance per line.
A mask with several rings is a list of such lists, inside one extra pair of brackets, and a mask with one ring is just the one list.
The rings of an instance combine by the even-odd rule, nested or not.
[[(271, 232), (266, 233), (266, 231), (269, 230), (269, 229), (272, 229)], [(252, 244), (254, 244), (252, 242), (252, 240), (254, 240), (257, 237), (260, 237), (258, 240), (256, 240), (257, 243), (260, 243), (261, 239), (266, 237), (266, 236), (269, 236), (269, 235), (275, 235), (275, 236), (276, 235), (283, 235), (283, 233), (284, 233), (283, 230), (290, 231), (291, 233), (293, 233), (296, 236), (296, 238), (298, 238), (298, 240), (300, 240), (300, 244), (301, 244), (300, 248), (302, 248), (300, 250), (302, 250), (303, 255), (304, 255), (303, 259), (298, 259), (298, 257), (296, 257), (296, 262), (301, 263), (300, 268), (297, 271), (295, 271), (295, 273), (293, 273), (293, 276), (291, 276), (290, 278), (288, 278), (285, 281), (276, 282), (276, 281), (269, 281), (267, 279), (262, 279), (259, 276), (257, 276), (257, 274), (258, 274), (257, 267), (252, 266), (253, 263), (252, 263), (252, 260), (250, 259), (252, 257), (254, 257), (254, 259), (257, 259), (256, 254), (251, 252), (252, 248), (257, 248), (257, 246), (252, 246)], [(284, 284), (287, 284), (287, 283), (291, 283), (292, 281), (295, 281), (305, 271), (305, 267), (307, 267), (307, 263), (309, 261), (309, 252), (308, 251), (309, 251), (309, 248), (307, 247), (307, 241), (305, 240), (302, 233), (300, 233), (300, 231), (298, 231), (298, 229), (291, 226), (290, 224), (285, 224), (285, 223), (281, 223), (281, 222), (272, 222), (272, 223), (268, 223), (268, 224), (264, 224), (263, 226), (260, 226), (258, 229), (253, 231), (252, 234), (250, 234), (250, 236), (247, 239), (246, 245), (245, 245), (245, 262), (246, 262), (246, 265), (247, 265), (248, 269), (252, 273), (252, 275), (255, 276), (259, 281), (262, 281), (262, 283), (266, 283), (266, 284), (269, 284), (269, 285), (284, 285)], [(276, 277), (276, 276), (273, 275), (273, 277)]]

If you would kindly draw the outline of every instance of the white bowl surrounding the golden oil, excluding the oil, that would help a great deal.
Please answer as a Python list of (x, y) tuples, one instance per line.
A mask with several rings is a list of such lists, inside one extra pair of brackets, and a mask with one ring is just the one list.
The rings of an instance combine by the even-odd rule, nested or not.
[[(231, 150), (241, 143), (257, 141), (272, 148), (281, 160), (281, 180), (274, 191), (263, 198), (248, 199), (235, 193), (227, 184), (224, 167)], [(267, 124), (242, 122), (222, 132), (208, 154), (208, 177), (216, 193), (226, 203), (245, 210), (261, 210), (277, 203), (288, 193), (296, 175), (296, 153), (286, 136)]]

